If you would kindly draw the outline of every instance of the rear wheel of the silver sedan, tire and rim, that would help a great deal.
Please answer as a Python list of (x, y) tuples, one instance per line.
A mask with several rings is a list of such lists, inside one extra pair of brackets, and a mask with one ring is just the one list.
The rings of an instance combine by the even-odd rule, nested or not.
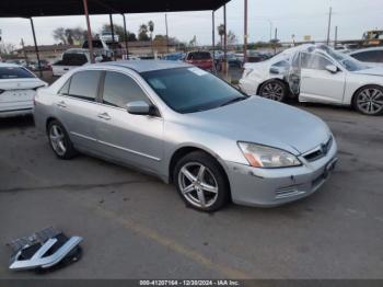
[(77, 154), (67, 130), (59, 122), (51, 120), (47, 131), (49, 145), (58, 158), (69, 160)]

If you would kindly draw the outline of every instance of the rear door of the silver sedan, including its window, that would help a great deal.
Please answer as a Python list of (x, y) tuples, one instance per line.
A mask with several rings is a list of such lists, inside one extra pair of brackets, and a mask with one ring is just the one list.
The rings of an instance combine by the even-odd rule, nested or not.
[(102, 71), (76, 72), (61, 88), (56, 114), (76, 146), (96, 148), (96, 122), (101, 114), (96, 102)]

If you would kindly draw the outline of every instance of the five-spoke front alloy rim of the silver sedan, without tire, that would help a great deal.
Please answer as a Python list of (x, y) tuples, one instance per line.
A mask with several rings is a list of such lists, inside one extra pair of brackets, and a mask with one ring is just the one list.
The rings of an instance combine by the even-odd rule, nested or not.
[(186, 163), (178, 173), (182, 195), (199, 208), (212, 206), (218, 198), (218, 183), (212, 172), (201, 163)]

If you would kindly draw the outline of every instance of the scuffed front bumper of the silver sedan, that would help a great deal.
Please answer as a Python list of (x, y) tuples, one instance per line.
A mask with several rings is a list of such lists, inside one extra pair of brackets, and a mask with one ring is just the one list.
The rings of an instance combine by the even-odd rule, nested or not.
[(301, 167), (257, 169), (225, 162), (232, 199), (240, 205), (274, 207), (306, 197), (316, 192), (328, 179), (337, 162), (334, 140), (327, 154)]

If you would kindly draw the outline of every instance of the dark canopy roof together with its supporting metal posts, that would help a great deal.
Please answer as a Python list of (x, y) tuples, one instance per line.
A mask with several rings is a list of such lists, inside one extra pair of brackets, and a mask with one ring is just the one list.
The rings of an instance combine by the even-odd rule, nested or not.
[[(247, 0), (245, 0), (246, 2)], [(33, 24), (33, 18), (37, 16), (69, 16), (85, 15), (88, 43), (91, 62), (94, 62), (92, 47), (92, 31), (90, 14), (109, 14), (112, 36), (114, 38), (112, 14), (121, 14), (124, 18), (125, 45), (128, 54), (127, 30), (125, 13), (154, 13), (154, 12), (187, 12), (187, 11), (212, 11), (212, 47), (214, 61), (214, 11), (224, 7), (224, 26), (227, 27), (225, 5), (230, 0), (1, 0), (0, 18), (27, 18), (31, 21), (33, 39), (36, 49), (37, 64), (40, 76), (42, 67), (38, 46)], [(167, 38), (167, 19), (166, 19)], [(224, 33), (227, 44), (227, 33)], [(227, 45), (224, 45), (227, 51)], [(224, 57), (227, 62), (227, 57)], [(214, 67), (214, 65), (213, 65)]]

